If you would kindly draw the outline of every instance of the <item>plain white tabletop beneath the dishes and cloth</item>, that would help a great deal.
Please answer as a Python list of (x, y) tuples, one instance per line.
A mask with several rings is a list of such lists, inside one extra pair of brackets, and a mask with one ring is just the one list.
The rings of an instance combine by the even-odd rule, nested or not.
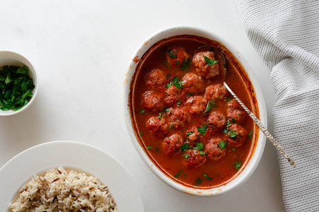
[[(135, 151), (122, 113), (125, 69), (153, 33), (194, 25), (240, 50), (264, 92), (273, 131), (270, 71), (247, 39), (236, 1), (1, 1), (0, 49), (27, 57), (38, 71), (32, 107), (0, 117), (0, 166), (47, 141), (89, 143), (113, 155), (136, 182), (145, 211), (284, 211), (276, 150), (240, 188), (201, 198), (158, 179)], [(1, 188), (0, 188), (1, 189)]]

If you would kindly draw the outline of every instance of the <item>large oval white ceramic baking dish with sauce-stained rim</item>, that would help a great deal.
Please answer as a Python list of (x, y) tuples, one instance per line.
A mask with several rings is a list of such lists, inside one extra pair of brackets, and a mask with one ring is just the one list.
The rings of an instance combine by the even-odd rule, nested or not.
[(259, 87), (256, 78), (254, 77), (254, 73), (252, 72), (250, 65), (244, 59), (242, 54), (240, 54), (240, 52), (235, 47), (233, 47), (233, 45), (231, 45), (230, 42), (227, 42), (226, 40), (224, 40), (223, 37), (219, 37), (218, 35), (215, 35), (206, 30), (202, 30), (195, 27), (189, 27), (189, 26), (174, 26), (171, 28), (160, 30), (159, 32), (155, 33), (154, 35), (149, 37), (147, 40), (145, 40), (145, 42), (143, 42), (142, 45), (137, 49), (135, 54), (133, 54), (133, 57), (128, 66), (128, 71), (125, 74), (125, 81), (124, 81), (125, 88), (124, 88), (123, 110), (124, 110), (126, 126), (128, 127), (130, 138), (133, 141), (133, 144), (136, 150), (140, 154), (140, 157), (142, 158), (142, 160), (144, 160), (145, 164), (150, 168), (150, 170), (152, 170), (152, 172), (154, 172), (155, 175), (159, 177), (159, 179), (162, 179), (163, 182), (173, 187), (174, 189), (177, 189), (180, 192), (184, 192), (186, 194), (192, 194), (196, 196), (216, 196), (219, 194), (224, 194), (225, 192), (235, 189), (236, 187), (239, 187), (241, 184), (243, 184), (252, 175), (252, 172), (254, 172), (254, 170), (256, 169), (260, 158), (262, 158), (262, 153), (264, 151), (264, 146), (266, 143), (266, 136), (264, 136), (262, 131), (259, 130), (256, 146), (245, 168), (242, 169), (239, 174), (233, 177), (226, 184), (223, 184), (219, 187), (213, 187), (211, 189), (186, 187), (184, 184), (180, 184), (179, 182), (174, 181), (173, 179), (167, 177), (167, 175), (165, 175), (161, 170), (159, 170), (157, 165), (152, 163), (152, 160), (150, 160), (150, 158), (147, 156), (147, 153), (142, 148), (142, 146), (140, 146), (140, 143), (137, 137), (135, 136), (135, 135), (138, 135), (138, 132), (135, 131), (135, 127), (133, 126), (133, 117), (131, 117), (131, 112), (129, 107), (130, 88), (131, 88), (131, 83), (133, 83), (135, 68), (138, 66), (138, 63), (140, 62), (140, 58), (142, 57), (142, 55), (145, 54), (145, 52), (147, 52), (147, 49), (152, 47), (152, 45), (154, 45), (159, 40), (172, 37), (175, 35), (196, 35), (199, 37), (205, 37), (208, 40), (216, 40), (220, 42), (222, 45), (224, 45), (228, 50), (230, 50), (230, 52), (233, 53), (235, 58), (242, 64), (242, 66), (244, 67), (247, 73), (247, 76), (250, 78), (250, 82), (252, 83), (252, 86), (254, 88), (254, 97), (257, 100), (257, 109), (259, 112), (259, 119), (261, 120), (262, 124), (264, 124), (264, 126), (267, 126), (267, 111), (264, 104), (264, 97), (262, 95), (262, 90)]

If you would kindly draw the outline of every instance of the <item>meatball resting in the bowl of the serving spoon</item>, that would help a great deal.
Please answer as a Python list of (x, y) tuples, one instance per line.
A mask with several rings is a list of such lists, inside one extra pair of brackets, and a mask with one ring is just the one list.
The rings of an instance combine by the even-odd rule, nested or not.
[(209, 66), (203, 56), (208, 57), (208, 59), (215, 59), (213, 52), (198, 52), (193, 59), (198, 75), (205, 78), (218, 76), (218, 63)]

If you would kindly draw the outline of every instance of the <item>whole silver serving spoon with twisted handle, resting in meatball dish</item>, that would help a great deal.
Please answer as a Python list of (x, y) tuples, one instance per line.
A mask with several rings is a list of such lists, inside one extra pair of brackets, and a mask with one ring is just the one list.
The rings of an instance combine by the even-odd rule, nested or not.
[[(203, 47), (199, 47), (197, 49), (196, 52), (204, 52), (206, 49), (211, 49), (211, 52), (214, 52), (214, 54), (216, 54), (217, 58), (220, 60), (220, 62), (222, 64), (226, 64), (226, 60), (225, 60), (225, 56), (222, 52), (220, 52), (220, 50), (216, 47), (211, 47), (211, 46), (203, 46)], [(226, 76), (226, 67), (223, 66), (225, 69), (225, 76)], [(277, 151), (279, 151), (279, 153), (281, 153), (281, 155), (284, 156), (284, 158), (286, 158), (290, 165), (292, 167), (296, 167), (295, 162), (289, 157), (289, 155), (287, 155), (287, 153), (284, 151), (283, 148), (281, 148), (281, 146), (279, 145), (279, 143), (277, 143), (277, 141), (274, 139), (274, 137), (272, 136), (272, 134), (269, 133), (269, 131), (264, 127), (264, 125), (262, 124), (262, 122), (260, 122), (259, 119), (257, 119), (257, 117), (246, 107), (246, 105), (240, 100), (240, 98), (237, 97), (237, 95), (233, 92), (233, 90), (231, 90), (229, 88), (229, 86), (227, 85), (227, 83), (225, 83), (225, 78), (224, 78), (224, 86), (225, 88), (233, 95), (233, 97), (235, 98), (235, 100), (237, 100), (238, 103), (240, 103), (240, 105), (242, 106), (242, 108), (244, 108), (244, 110), (247, 112), (247, 114), (250, 115), (250, 117), (252, 118), (252, 120), (254, 120), (254, 123), (257, 124), (257, 126), (259, 126), (259, 129), (262, 130), (262, 132), (264, 133), (264, 135), (267, 137), (267, 139), (272, 142), (272, 144), (276, 147)]]

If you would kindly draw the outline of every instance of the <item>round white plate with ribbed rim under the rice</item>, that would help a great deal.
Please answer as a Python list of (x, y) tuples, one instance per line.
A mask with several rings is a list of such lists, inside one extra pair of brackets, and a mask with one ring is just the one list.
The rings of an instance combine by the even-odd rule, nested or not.
[(28, 148), (1, 167), (0, 211), (8, 211), (13, 196), (33, 175), (60, 166), (97, 177), (108, 186), (118, 211), (144, 211), (138, 188), (124, 167), (101, 149), (74, 141), (53, 141)]

